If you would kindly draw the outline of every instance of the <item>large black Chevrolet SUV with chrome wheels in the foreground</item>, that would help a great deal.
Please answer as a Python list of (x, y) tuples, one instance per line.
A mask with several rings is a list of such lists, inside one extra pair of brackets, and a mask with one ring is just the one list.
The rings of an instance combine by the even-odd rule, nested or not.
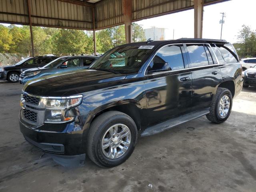
[(25, 84), (20, 130), (58, 158), (87, 154), (99, 166), (117, 166), (138, 136), (204, 115), (225, 122), (242, 84), (238, 55), (225, 40), (124, 44), (88, 69)]

